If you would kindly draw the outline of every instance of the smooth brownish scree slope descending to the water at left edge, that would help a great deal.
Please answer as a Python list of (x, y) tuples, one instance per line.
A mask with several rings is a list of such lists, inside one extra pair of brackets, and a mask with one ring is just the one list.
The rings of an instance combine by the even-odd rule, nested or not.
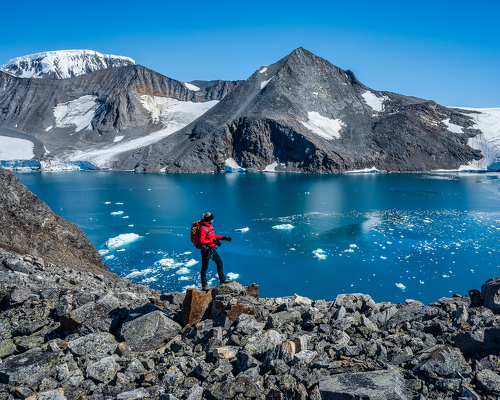
[(61, 267), (109, 274), (83, 231), (54, 214), (12, 173), (0, 168), (0, 248)]

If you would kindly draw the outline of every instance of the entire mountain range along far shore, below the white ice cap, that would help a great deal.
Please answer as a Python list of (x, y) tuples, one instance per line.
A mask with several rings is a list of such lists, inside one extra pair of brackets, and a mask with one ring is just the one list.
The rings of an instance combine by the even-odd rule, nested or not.
[(63, 80), (0, 71), (2, 137), (33, 143), (26, 158), (138, 172), (500, 167), (499, 110), (373, 90), (303, 48), (246, 81), (140, 65)]

